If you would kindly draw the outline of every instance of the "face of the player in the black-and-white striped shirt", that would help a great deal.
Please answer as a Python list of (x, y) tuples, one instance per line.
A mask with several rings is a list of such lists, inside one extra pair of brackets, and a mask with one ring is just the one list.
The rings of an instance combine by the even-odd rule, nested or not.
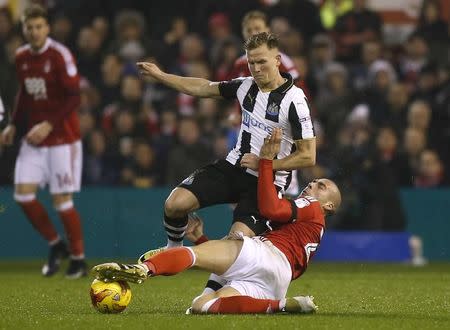
[(280, 54), (278, 49), (261, 45), (247, 51), (248, 68), (258, 86), (270, 85), (279, 74)]

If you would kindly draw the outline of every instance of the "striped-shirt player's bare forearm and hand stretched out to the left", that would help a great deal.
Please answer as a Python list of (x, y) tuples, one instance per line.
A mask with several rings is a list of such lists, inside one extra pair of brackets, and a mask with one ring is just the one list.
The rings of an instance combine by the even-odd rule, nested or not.
[(153, 78), (181, 93), (197, 97), (219, 98), (221, 96), (218, 82), (169, 74), (158, 68), (156, 64), (150, 62), (138, 62), (136, 65), (139, 73), (144, 77)]

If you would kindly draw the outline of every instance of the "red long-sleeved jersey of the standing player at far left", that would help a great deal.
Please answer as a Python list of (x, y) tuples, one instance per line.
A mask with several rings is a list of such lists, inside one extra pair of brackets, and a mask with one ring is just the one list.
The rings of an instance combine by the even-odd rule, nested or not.
[(49, 121), (53, 130), (41, 146), (79, 140), (80, 77), (71, 52), (50, 38), (39, 51), (24, 45), (16, 51), (16, 72), (20, 89), (13, 124), (23, 120), (29, 130)]

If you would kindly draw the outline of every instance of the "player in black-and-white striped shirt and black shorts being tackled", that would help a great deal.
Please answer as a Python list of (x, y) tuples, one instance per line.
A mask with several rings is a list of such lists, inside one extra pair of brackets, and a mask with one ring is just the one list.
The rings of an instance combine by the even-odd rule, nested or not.
[[(309, 108), (302, 90), (289, 74), (281, 74), (278, 40), (260, 33), (245, 44), (251, 77), (225, 82), (180, 77), (162, 72), (153, 63), (138, 63), (141, 74), (180, 92), (198, 97), (237, 99), (243, 116), (238, 142), (226, 160), (195, 171), (175, 188), (164, 206), (168, 248), (182, 245), (188, 213), (207, 206), (237, 203), (231, 231), (246, 236), (267, 230), (256, 201), (259, 152), (275, 128), (283, 131), (274, 160), (275, 184), (283, 191), (290, 171), (315, 164), (316, 144)], [(152, 250), (142, 260), (159, 250)]]

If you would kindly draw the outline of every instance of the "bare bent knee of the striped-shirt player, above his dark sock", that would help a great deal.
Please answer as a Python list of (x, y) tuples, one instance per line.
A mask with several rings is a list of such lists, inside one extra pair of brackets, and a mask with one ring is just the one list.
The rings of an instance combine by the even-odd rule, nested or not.
[(164, 203), (164, 212), (169, 218), (178, 218), (198, 208), (194, 194), (182, 188), (175, 188)]

